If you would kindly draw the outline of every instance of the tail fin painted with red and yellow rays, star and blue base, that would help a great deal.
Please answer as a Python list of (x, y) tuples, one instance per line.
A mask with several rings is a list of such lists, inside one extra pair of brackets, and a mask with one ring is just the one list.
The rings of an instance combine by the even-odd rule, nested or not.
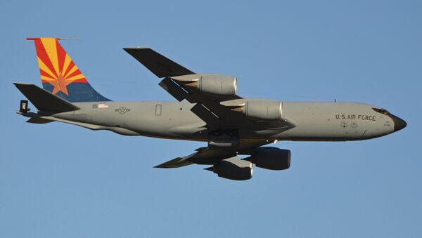
[(95, 91), (68, 53), (59, 38), (27, 38), (35, 43), (42, 86), (46, 91), (69, 102), (110, 101)]

